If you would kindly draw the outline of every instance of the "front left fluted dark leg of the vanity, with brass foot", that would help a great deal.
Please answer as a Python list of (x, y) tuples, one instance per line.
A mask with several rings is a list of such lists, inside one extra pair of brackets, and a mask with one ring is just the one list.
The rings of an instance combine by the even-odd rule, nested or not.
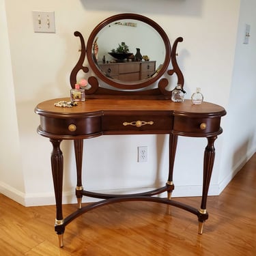
[(53, 152), (51, 154), (51, 168), (53, 173), (53, 186), (56, 201), (55, 231), (59, 236), (59, 246), (62, 247), (63, 233), (65, 231), (62, 214), (63, 154), (60, 150), (61, 140), (50, 139), (50, 141), (53, 144)]

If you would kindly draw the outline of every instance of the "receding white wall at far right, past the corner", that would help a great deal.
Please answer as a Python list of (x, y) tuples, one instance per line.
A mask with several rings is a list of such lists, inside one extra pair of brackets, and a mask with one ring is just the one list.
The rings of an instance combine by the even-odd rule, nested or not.
[[(236, 54), (227, 107), (223, 124), (225, 143), (219, 184), (225, 188), (231, 177), (256, 151), (256, 1), (241, 0)], [(251, 25), (249, 43), (244, 44), (246, 24)]]

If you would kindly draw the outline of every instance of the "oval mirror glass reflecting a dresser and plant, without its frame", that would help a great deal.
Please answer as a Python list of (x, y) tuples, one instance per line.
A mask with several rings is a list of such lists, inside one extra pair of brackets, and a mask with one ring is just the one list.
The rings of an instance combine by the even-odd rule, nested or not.
[(143, 81), (158, 74), (166, 51), (156, 29), (140, 20), (121, 19), (98, 32), (92, 55), (98, 70), (109, 79)]

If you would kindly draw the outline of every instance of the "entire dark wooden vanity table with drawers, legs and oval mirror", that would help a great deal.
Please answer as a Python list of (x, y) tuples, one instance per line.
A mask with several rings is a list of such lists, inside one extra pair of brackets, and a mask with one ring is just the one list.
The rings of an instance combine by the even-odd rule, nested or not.
[[(132, 24), (132, 26), (129, 24)], [(162, 59), (161, 57), (152, 59), (156, 61), (157, 69), (155, 69), (154, 74), (151, 74), (150, 78), (138, 81), (122, 81), (120, 78), (116, 79), (115, 76), (111, 77), (106, 74), (106, 70), (96, 61), (94, 52), (96, 38), (98, 38), (98, 59), (100, 59), (100, 49), (102, 49), (102, 55), (106, 55), (109, 50), (108, 48), (104, 49), (104, 44), (107, 44), (107, 42), (104, 44), (103, 42), (106, 41), (106, 38), (100, 41), (102, 31), (115, 29), (115, 27), (124, 30), (122, 36), (126, 40), (125, 42), (128, 43), (129, 41), (131, 45), (134, 44), (134, 47), (137, 43), (139, 44), (139, 42), (134, 41), (134, 38), (138, 38), (137, 33), (140, 33), (141, 38), (143, 38), (141, 28), (146, 30), (150, 28), (152, 31), (151, 38), (155, 35), (158, 36), (158, 39), (153, 40), (156, 44), (153, 41), (147, 42), (147, 45), (150, 44), (152, 49), (150, 51), (145, 50), (149, 56), (151, 54), (156, 56), (155, 53), (159, 53), (159, 55), (164, 53)], [(148, 32), (146, 33), (148, 34)], [(67, 108), (56, 107), (54, 103), (59, 100), (69, 100), (69, 98), (52, 99), (41, 102), (35, 107), (35, 113), (40, 115), (38, 133), (49, 138), (53, 145), (51, 167), (57, 208), (55, 231), (59, 235), (59, 246), (63, 246), (63, 233), (66, 225), (74, 221), (76, 217), (100, 206), (121, 201), (154, 201), (182, 208), (197, 216), (199, 221), (198, 232), (202, 233), (203, 223), (208, 219), (206, 201), (214, 165), (214, 141), (217, 135), (222, 132), (221, 117), (226, 112), (223, 107), (208, 102), (203, 102), (200, 105), (193, 105), (190, 100), (185, 100), (182, 103), (171, 102), (171, 91), (167, 89), (169, 81), (162, 78), (162, 75), (165, 72), (169, 75), (175, 74), (177, 84), (182, 85), (183, 88), (184, 77), (176, 61), (177, 44), (182, 42), (182, 38), (177, 38), (171, 47), (165, 31), (153, 20), (138, 14), (118, 14), (106, 18), (92, 31), (87, 47), (85, 47), (85, 41), (81, 33), (76, 31), (74, 35), (81, 40), (81, 55), (70, 74), (72, 88), (74, 88), (76, 76), (80, 70), (85, 73), (92, 70), (95, 74), (95, 76), (89, 76), (90, 86), (86, 90), (86, 101), (79, 102), (78, 106)], [(159, 39), (160, 45), (158, 44)], [(113, 44), (117, 44), (120, 42), (119, 40), (117, 39)], [(141, 51), (145, 48), (141, 46)], [(85, 55), (87, 55), (89, 68), (83, 66)], [(172, 68), (168, 69), (170, 61)], [(119, 65), (119, 63), (116, 62), (115, 65)], [(155, 87), (152, 86), (154, 84), (156, 84)], [(166, 184), (156, 190), (132, 195), (106, 195), (85, 190), (81, 180), (83, 139), (104, 134), (169, 134), (169, 170), (167, 170)], [(208, 141), (203, 159), (201, 205), (198, 209), (171, 198), (174, 189), (173, 164), (178, 136), (205, 137)], [(62, 140), (66, 139), (74, 141), (77, 175), (75, 192), (78, 200), (78, 210), (64, 218), (62, 213), (63, 154), (60, 144)], [(167, 192), (167, 197), (154, 197), (164, 192)], [(103, 200), (82, 205), (83, 195)]]

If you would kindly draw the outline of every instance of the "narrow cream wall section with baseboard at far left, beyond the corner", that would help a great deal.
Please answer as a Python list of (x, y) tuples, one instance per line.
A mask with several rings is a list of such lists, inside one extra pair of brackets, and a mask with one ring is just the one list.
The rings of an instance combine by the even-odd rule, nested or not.
[(16, 201), (25, 196), (5, 3), (0, 1), (0, 188)]

